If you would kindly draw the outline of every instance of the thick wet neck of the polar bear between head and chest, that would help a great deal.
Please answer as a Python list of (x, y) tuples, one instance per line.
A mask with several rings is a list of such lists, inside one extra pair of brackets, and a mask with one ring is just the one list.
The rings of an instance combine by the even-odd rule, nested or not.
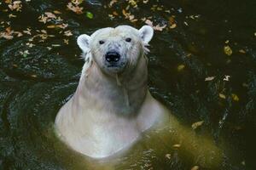
[(94, 107), (119, 116), (136, 116), (148, 92), (147, 61), (144, 57), (129, 74), (109, 76), (92, 64), (82, 75), (84, 77), (80, 78), (74, 98), (79, 100), (85, 111)]

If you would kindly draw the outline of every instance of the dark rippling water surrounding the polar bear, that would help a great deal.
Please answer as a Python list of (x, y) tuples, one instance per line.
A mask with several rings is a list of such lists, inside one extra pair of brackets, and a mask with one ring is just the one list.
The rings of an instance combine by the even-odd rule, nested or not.
[[(67, 10), (67, 3), (22, 1), (20, 12), (6, 12), (8, 6), (1, 1), (0, 31), (9, 27), (10, 21), (12, 30), (31, 28), (32, 35), (0, 39), (0, 169), (90, 169), (100, 164), (84, 161), (83, 156), (63, 148), (52, 131), (57, 111), (78, 85), (83, 60), (76, 37), (105, 26), (129, 24), (139, 28), (144, 24), (142, 20), (125, 19), (122, 9), (127, 1), (113, 3), (112, 7), (109, 1), (80, 4), (84, 12), (93, 14), (92, 19)], [(137, 8), (130, 2), (127, 10), (136, 19), (152, 17), (149, 19), (154, 26), (167, 25), (167, 29), (155, 31), (151, 42), (149, 89), (185, 126), (204, 121), (195, 133), (212, 137), (224, 150), (226, 161), (217, 169), (256, 168), (255, 8), (253, 0), (149, 0), (146, 4), (139, 1)], [(55, 15), (62, 20), (47, 24), (38, 21), (41, 14), (54, 10), (61, 12)], [(11, 13), (17, 17), (9, 18)], [(169, 28), (172, 15), (177, 24), (173, 29)], [(62, 23), (68, 24), (64, 31), (72, 31), (72, 36), (63, 36), (61, 28), (47, 28)], [(35, 37), (35, 46), (29, 48), (26, 43), (43, 34), (41, 30), (55, 37), (44, 42), (40, 42), (42, 37)], [(63, 39), (68, 39), (68, 44)], [(224, 46), (232, 49), (230, 56), (224, 54)], [(225, 76), (230, 76), (229, 81), (224, 81)], [(206, 82), (206, 77), (214, 79)], [(166, 141), (143, 149), (139, 142), (132, 149), (136, 154), (115, 160), (119, 163), (113, 167), (191, 169), (195, 165), (175, 150), (171, 159), (166, 158), (167, 152), (161, 148)]]

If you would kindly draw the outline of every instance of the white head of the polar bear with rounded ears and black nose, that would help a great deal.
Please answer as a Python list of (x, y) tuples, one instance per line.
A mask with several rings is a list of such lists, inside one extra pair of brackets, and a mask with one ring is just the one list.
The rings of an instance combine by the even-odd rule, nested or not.
[(91, 36), (80, 35), (77, 42), (103, 72), (114, 75), (136, 67), (137, 61), (148, 51), (146, 46), (153, 34), (150, 26), (139, 30), (131, 26), (107, 27)]

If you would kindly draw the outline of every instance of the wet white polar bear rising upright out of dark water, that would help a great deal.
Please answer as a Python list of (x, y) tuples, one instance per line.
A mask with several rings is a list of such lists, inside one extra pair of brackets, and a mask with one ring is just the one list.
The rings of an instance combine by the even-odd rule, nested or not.
[(148, 128), (168, 122), (168, 111), (148, 92), (148, 42), (154, 30), (108, 27), (78, 37), (85, 59), (79, 86), (55, 118), (73, 150), (93, 158), (129, 148)]

